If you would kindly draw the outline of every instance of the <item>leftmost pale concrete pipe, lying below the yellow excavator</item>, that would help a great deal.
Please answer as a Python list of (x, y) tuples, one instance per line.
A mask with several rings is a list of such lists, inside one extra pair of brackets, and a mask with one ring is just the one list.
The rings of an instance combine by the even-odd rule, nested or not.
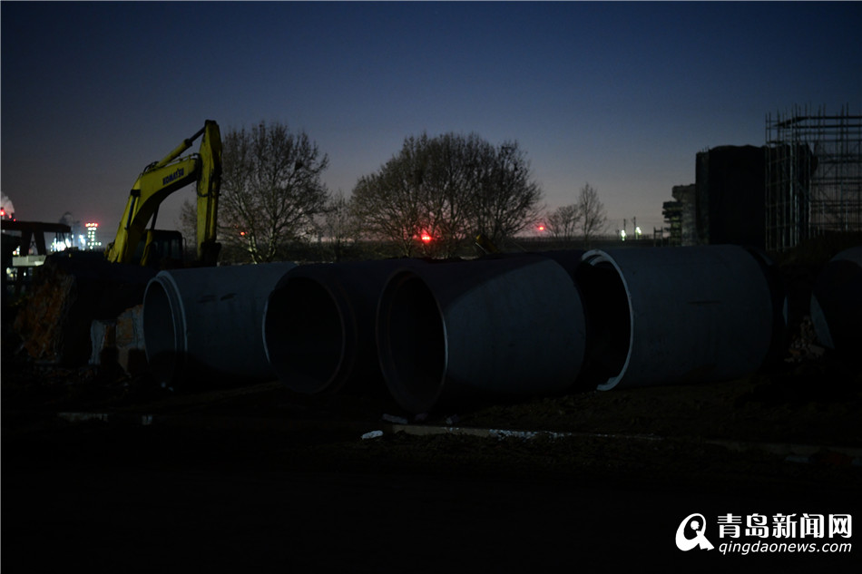
[(143, 336), (156, 381), (174, 386), (274, 378), (263, 348), (269, 292), (294, 263), (159, 272), (143, 296)]

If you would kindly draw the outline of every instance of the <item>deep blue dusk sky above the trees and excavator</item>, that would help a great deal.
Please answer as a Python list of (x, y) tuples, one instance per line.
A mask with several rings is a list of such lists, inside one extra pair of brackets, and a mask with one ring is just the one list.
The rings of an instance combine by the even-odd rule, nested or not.
[(796, 104), (862, 113), (859, 2), (0, 8), (2, 191), (17, 219), (69, 211), (105, 242), (143, 167), (208, 119), (305, 131), (345, 194), (410, 135), (516, 140), (548, 207), (589, 182), (609, 230), (651, 233), (698, 151), (763, 145), (767, 114)]

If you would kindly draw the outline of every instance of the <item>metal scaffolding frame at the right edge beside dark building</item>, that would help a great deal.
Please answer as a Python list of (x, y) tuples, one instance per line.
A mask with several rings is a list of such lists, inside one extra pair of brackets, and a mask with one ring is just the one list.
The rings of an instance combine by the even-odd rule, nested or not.
[(862, 231), (862, 116), (808, 106), (766, 120), (766, 247)]

